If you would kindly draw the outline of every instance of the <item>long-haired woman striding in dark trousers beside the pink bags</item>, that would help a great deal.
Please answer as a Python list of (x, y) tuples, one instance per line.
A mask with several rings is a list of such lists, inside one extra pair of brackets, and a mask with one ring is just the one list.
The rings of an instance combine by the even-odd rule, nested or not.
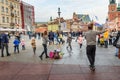
[(43, 54), (46, 55), (46, 58), (49, 58), (49, 56), (48, 56), (48, 54), (47, 54), (47, 43), (48, 43), (48, 41), (49, 41), (49, 40), (48, 40), (47, 31), (45, 31), (45, 32), (42, 34), (42, 41), (43, 41), (42, 45), (43, 45), (44, 50), (43, 50), (42, 54), (39, 56), (41, 60), (43, 59)]

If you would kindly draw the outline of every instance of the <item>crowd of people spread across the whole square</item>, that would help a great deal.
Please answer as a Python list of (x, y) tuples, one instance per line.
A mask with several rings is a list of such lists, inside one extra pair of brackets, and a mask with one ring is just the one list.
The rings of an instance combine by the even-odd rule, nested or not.
[[(88, 30), (87, 31), (82, 31), (82, 29), (80, 31), (77, 32), (76, 35), (76, 40), (78, 42), (78, 44), (80, 45), (80, 49), (82, 48), (83, 45), (83, 41), (86, 40), (87, 44), (86, 44), (86, 55), (88, 57), (88, 60), (90, 62), (90, 69), (92, 71), (95, 71), (95, 54), (96, 54), (96, 43), (97, 45), (100, 45), (101, 47), (105, 47), (108, 48), (108, 44), (109, 45), (113, 45), (116, 47), (116, 43), (119, 39), (119, 31), (120, 31), (120, 22), (117, 23), (117, 31), (115, 31), (115, 29), (108, 29), (105, 28), (102, 31), (94, 31), (93, 30), (93, 26), (94, 23), (90, 23), (88, 24)], [(116, 35), (115, 35), (116, 34)], [(41, 60), (43, 60), (43, 55), (45, 54), (46, 58), (49, 58), (48, 55), (48, 47), (47, 44), (49, 43), (49, 45), (60, 45), (60, 44), (64, 44), (65, 42), (67, 43), (66, 49), (68, 50), (68, 48), (70, 49), (70, 51), (72, 51), (72, 39), (75, 39), (75, 35), (73, 35), (73, 32), (67, 32), (67, 35), (64, 35), (67, 37), (66, 40), (63, 39), (63, 32), (47, 32), (45, 31), (44, 33), (38, 34), (38, 39), (40, 39), (40, 37), (42, 38), (42, 46), (43, 46), (43, 52), (40, 54), (39, 58)], [(117, 36), (117, 37), (116, 37)], [(1, 57), (4, 57), (4, 48), (6, 48), (6, 54), (7, 56), (10, 56), (11, 54), (9, 53), (9, 38), (8, 34), (6, 34), (6, 32), (1, 32), (0, 33), (0, 48), (1, 48)], [(33, 48), (33, 53), (34, 55), (36, 54), (36, 33), (32, 34), (32, 38), (31, 39), (31, 46)], [(116, 42), (116, 43), (115, 43)], [(22, 50), (25, 50), (26, 47), (25, 45), (25, 40), (21, 39), (21, 35), (19, 33), (15, 34), (15, 39), (13, 41), (14, 44), (14, 53), (19, 53), (19, 45), (22, 45)], [(115, 56), (118, 56), (120, 54), (120, 47), (116, 47), (116, 54)]]

